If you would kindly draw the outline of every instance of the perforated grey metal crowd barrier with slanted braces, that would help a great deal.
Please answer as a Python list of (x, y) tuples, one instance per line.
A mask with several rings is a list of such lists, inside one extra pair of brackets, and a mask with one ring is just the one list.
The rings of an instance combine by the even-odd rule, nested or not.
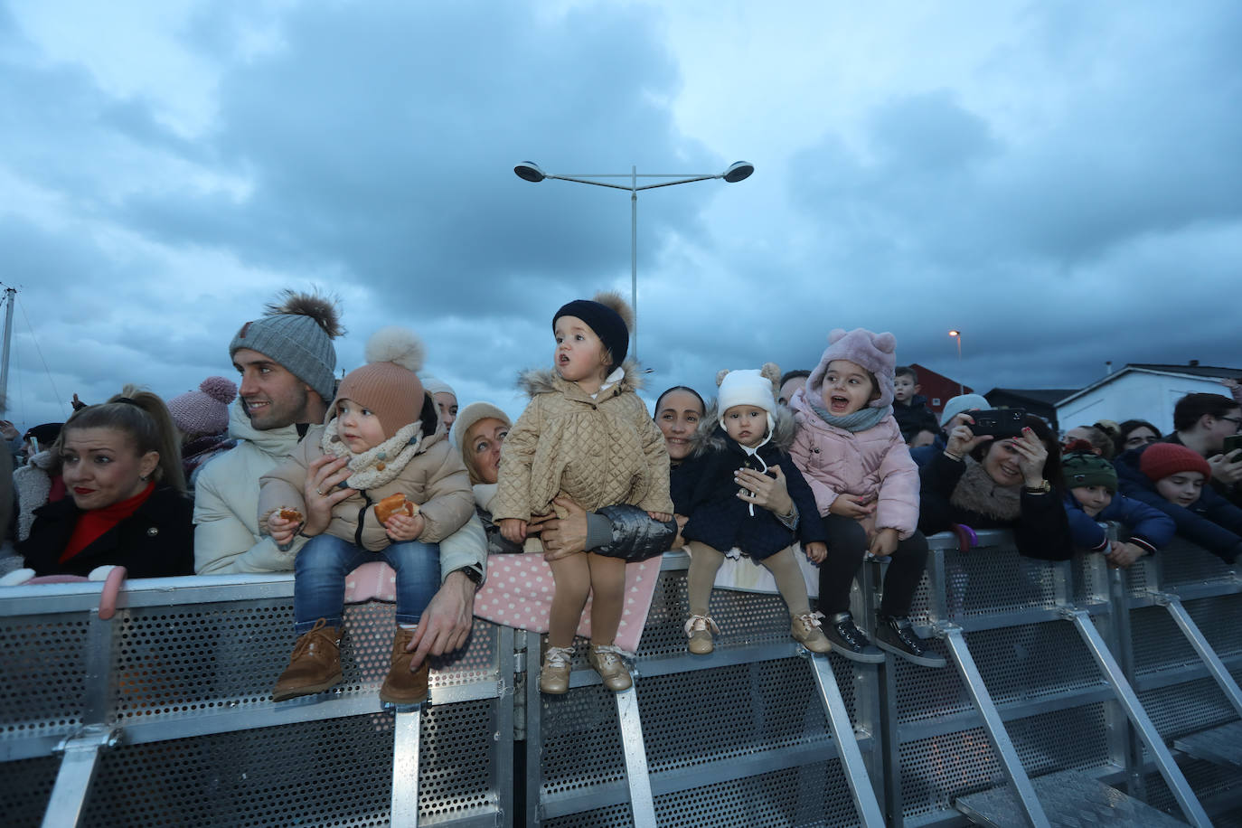
[[(581, 648), (570, 693), (544, 696), (539, 637), (476, 621), (430, 704), (397, 713), (376, 696), (388, 605), (347, 610), (340, 690), (273, 705), (289, 577), (133, 581), (112, 621), (98, 585), (0, 590), (0, 808), (10, 826), (1242, 817), (1235, 571), (1189, 546), (1122, 572), (1023, 559), (1004, 533), (930, 541), (912, 619), (943, 669), (812, 657), (777, 596), (723, 590), (717, 650), (692, 657), (671, 552), (633, 690), (604, 690)], [(853, 592), (864, 626), (881, 570)]]

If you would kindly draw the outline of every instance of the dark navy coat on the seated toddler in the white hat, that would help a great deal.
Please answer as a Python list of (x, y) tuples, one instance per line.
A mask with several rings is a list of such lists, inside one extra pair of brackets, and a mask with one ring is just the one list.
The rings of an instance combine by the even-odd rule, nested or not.
[[(789, 453), (773, 443), (763, 446), (758, 453), (768, 467), (779, 466), (785, 474), (789, 497), (797, 506), (797, 533), (763, 506), (755, 506), (751, 515), (750, 504), (738, 498), (739, 487), (733, 473), (741, 468), (758, 470), (763, 466), (717, 426), (712, 447), (677, 467), (673, 508), (677, 514), (689, 518), (682, 538), (720, 551), (737, 546), (756, 561), (792, 546), (796, 540), (809, 544), (827, 539), (811, 487)], [(769, 475), (775, 477), (771, 472)]]

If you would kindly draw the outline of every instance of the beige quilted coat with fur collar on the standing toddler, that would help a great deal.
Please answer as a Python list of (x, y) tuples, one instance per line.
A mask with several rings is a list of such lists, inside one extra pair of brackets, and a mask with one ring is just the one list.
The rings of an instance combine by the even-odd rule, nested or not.
[(555, 371), (523, 374), (532, 398), (504, 438), (493, 520), (548, 514), (561, 492), (587, 511), (627, 503), (672, 514), (664, 437), (635, 394), (637, 365), (625, 369), (594, 400)]

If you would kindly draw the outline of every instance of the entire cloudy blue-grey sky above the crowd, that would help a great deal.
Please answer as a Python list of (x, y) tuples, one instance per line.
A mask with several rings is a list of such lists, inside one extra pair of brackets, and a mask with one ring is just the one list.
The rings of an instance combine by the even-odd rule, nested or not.
[(980, 390), (1240, 366), (1238, 43), (1230, 0), (4, 2), (7, 416), (231, 375), (312, 284), (342, 367), (407, 325), (517, 413), (553, 312), (630, 289), (628, 196), (528, 159), (755, 165), (640, 196), (651, 391), (859, 325)]

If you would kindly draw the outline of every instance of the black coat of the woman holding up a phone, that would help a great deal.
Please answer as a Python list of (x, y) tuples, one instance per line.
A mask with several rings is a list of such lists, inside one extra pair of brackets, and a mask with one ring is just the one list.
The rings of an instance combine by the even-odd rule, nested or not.
[(1064, 561), (1073, 555), (1069, 519), (1057, 489), (1047, 494), (1030, 494), (1023, 489), (1018, 518), (1002, 520), (953, 504), (953, 490), (965, 470), (964, 462), (954, 461), (944, 452), (919, 469), (919, 529), (924, 535), (949, 531), (953, 524), (965, 524), (971, 529), (1010, 529), (1021, 555), (1046, 561)]

